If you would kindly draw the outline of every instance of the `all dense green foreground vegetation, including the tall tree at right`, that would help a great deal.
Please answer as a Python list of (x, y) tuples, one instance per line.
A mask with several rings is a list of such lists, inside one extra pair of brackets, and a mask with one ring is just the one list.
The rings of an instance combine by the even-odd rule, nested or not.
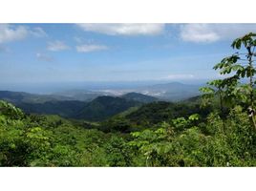
[(239, 53), (214, 67), (224, 77), (201, 98), (129, 105), (101, 122), (27, 115), (0, 101), (0, 165), (255, 166), (255, 37), (234, 41)]

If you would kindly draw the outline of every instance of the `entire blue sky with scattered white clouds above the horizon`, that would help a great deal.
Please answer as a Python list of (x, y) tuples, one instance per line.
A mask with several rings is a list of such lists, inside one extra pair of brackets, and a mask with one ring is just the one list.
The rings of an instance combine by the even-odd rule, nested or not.
[(192, 80), (255, 24), (0, 24), (0, 81)]

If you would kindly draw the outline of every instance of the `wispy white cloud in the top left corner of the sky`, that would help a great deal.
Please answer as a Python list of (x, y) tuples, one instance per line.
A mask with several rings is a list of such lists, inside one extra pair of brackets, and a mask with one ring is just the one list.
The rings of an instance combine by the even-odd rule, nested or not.
[(29, 28), (25, 26), (14, 26), (9, 24), (0, 24), (0, 43), (22, 40), (29, 35), (42, 37), (47, 35), (41, 28)]

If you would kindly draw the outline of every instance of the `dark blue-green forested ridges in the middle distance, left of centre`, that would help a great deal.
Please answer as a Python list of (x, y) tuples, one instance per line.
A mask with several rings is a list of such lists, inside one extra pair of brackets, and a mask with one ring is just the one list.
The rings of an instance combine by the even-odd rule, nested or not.
[(0, 91), (0, 99), (7, 100), (30, 114), (59, 115), (92, 121), (103, 120), (131, 107), (157, 100), (138, 93), (97, 96), (91, 101), (79, 101), (70, 100), (72, 98), (69, 96), (42, 96), (8, 91)]

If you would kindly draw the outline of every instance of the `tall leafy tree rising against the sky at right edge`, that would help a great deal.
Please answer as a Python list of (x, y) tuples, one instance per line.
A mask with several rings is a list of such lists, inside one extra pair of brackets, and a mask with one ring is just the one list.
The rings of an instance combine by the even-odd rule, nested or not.
[[(220, 95), (221, 110), (223, 110), (224, 100), (233, 103), (233, 106), (242, 103), (249, 112), (252, 125), (256, 129), (255, 124), (255, 60), (256, 56), (256, 33), (250, 32), (233, 41), (231, 47), (239, 52), (231, 56), (224, 57), (222, 61), (216, 64), (213, 69), (220, 70), (220, 74), (224, 79), (208, 82), (215, 89), (204, 87), (202, 92), (207, 96), (215, 94)], [(244, 81), (245, 82), (244, 82)], [(246, 80), (248, 81), (246, 83)], [(223, 111), (222, 111), (223, 113)]]

